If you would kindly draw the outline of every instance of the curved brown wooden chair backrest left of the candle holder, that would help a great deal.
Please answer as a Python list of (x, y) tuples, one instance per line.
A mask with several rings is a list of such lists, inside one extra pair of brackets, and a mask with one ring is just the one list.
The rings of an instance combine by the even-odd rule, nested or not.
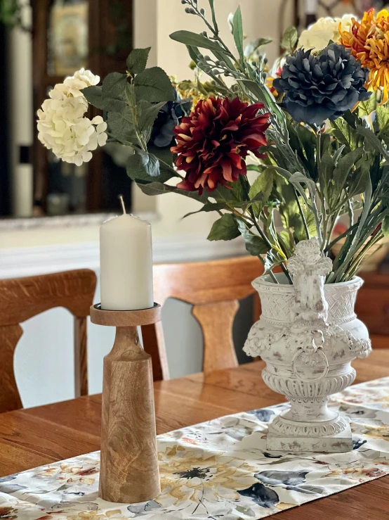
[(95, 286), (89, 269), (0, 280), (0, 412), (22, 407), (13, 372), (20, 323), (53, 307), (65, 307), (74, 316), (75, 395), (88, 394), (86, 317)]

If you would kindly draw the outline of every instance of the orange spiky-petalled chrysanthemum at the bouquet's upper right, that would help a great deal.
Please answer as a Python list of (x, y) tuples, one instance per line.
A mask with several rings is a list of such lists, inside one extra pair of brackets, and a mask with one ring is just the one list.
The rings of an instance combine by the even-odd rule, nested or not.
[(388, 101), (389, 87), (389, 13), (383, 9), (374, 14), (374, 9), (369, 9), (361, 22), (352, 18), (351, 30), (342, 30), (339, 24), (339, 43), (370, 70), (366, 87), (381, 90), (383, 104)]

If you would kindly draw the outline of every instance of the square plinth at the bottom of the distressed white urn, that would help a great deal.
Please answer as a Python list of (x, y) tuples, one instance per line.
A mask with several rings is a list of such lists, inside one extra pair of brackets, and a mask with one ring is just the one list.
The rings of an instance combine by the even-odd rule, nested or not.
[(321, 453), (345, 453), (352, 451), (352, 434), (350, 423), (340, 433), (319, 437), (282, 436), (271, 431), (269, 428), (266, 449), (268, 451), (286, 452), (321, 452)]

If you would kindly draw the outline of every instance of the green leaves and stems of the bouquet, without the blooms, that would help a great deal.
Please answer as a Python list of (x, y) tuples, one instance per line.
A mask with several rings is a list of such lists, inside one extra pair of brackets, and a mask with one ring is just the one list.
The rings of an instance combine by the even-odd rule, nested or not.
[[(289, 282), (286, 264), (298, 241), (317, 236), (322, 254), (330, 255), (342, 240), (327, 283), (351, 279), (371, 248), (389, 234), (389, 108), (377, 106), (373, 98), (327, 128), (294, 122), (266, 82), (265, 56), (258, 51), (263, 39), (244, 47), (238, 7), (230, 18), (235, 49), (229, 49), (220, 37), (214, 2), (208, 3), (209, 17), (199, 1), (182, 0), (185, 11), (201, 18), (205, 30), (179, 30), (171, 38), (185, 44), (195, 66), (211, 78), (212, 91), (231, 100), (239, 96), (250, 103), (261, 101), (263, 112), (270, 113), (268, 144), (261, 150), (266, 158), (253, 158), (247, 165), (256, 174), (251, 184), (239, 176), (237, 182), (199, 195), (166, 183), (180, 178), (180, 172), (169, 149), (153, 148), (149, 139), (160, 108), (173, 101), (174, 91), (163, 70), (146, 68), (150, 49), (135, 49), (126, 72), (108, 75), (101, 87), (84, 89), (86, 99), (107, 111), (110, 139), (133, 148), (128, 175), (145, 194), (182, 194), (202, 203), (194, 213), (218, 213), (209, 240), (242, 236), (247, 251), (260, 258), (273, 281), (272, 270), (280, 266)], [(291, 27), (282, 39), (286, 52), (293, 53), (296, 40)], [(334, 239), (342, 215), (349, 226)]]

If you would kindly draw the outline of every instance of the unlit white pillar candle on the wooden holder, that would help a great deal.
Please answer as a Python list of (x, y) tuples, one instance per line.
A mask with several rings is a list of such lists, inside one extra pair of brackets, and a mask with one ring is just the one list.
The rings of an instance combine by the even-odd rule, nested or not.
[(104, 310), (137, 310), (154, 305), (149, 222), (124, 213), (102, 224), (100, 286)]

